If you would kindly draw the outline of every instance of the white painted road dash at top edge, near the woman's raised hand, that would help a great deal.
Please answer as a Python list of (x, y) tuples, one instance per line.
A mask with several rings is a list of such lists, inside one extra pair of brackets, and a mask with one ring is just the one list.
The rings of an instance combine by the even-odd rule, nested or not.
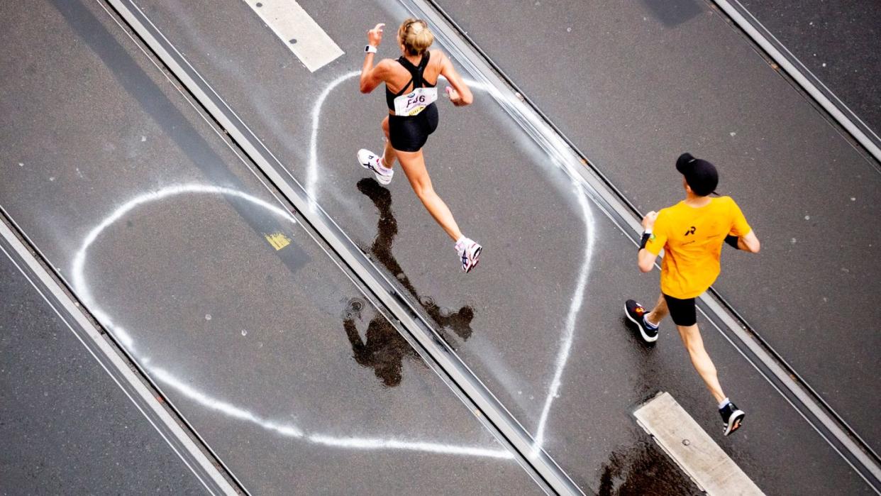
[(293, 0), (245, 0), (245, 3), (308, 70), (315, 72), (343, 55), (343, 49)]

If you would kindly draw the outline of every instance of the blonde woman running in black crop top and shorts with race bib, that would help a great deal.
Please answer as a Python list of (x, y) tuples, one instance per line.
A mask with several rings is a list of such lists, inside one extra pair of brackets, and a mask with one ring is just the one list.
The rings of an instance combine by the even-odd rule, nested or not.
[(447, 78), (453, 86), (447, 86), (446, 91), (456, 107), (469, 105), (474, 98), (448, 57), (440, 50), (428, 50), (434, 35), (424, 20), (403, 21), (397, 30), (397, 44), (402, 55), (396, 60), (382, 59), (374, 66), (374, 54), (382, 41), (382, 26), (385, 25), (377, 24), (367, 31), (368, 44), (361, 67), (361, 93), (370, 93), (381, 83), (386, 84), (389, 115), (382, 120), (382, 130), (386, 136), (385, 151), (378, 156), (361, 149), (358, 161), (362, 167), (372, 170), (381, 184), (391, 181), (395, 173), (391, 168), (395, 159), (401, 162), (403, 174), (410, 180), (416, 196), (455, 241), (462, 270), (468, 272), (478, 264), (483, 247), (463, 235), (447, 204), (434, 192), (422, 147), (428, 135), (438, 126), (438, 109), (434, 104), (437, 100), (435, 86), (438, 76)]

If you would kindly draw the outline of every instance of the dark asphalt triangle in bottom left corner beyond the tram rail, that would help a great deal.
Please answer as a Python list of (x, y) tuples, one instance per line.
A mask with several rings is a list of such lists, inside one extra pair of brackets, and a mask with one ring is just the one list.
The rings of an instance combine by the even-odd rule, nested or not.
[(204, 487), (0, 253), (0, 493)]

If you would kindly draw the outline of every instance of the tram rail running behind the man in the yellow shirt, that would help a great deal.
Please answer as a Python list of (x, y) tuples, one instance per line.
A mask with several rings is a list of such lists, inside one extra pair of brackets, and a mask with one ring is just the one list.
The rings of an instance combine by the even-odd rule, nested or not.
[[(558, 167), (575, 181), (580, 181), (584, 193), (628, 234), (634, 245), (638, 244), (638, 233), (642, 231), (642, 226), (639, 218), (635, 217), (633, 208), (610, 189), (607, 182), (589, 163), (582, 161), (583, 154), (577, 152), (574, 145), (570, 146), (559, 130), (553, 129), (552, 124), (540, 115), (525, 97), (512, 88), (513, 83), (509, 82), (499, 68), (492, 65), (488, 56), (479, 52), (479, 48), (461, 33), (452, 19), (431, 0), (402, 0), (402, 2), (414, 17), (429, 21), (435, 35), (451, 49), (452, 56), (462, 63), (480, 84), (492, 89), (489, 93), (508, 115), (544, 148)], [(810, 390), (795, 381), (787, 370), (791, 367), (781, 364), (781, 361), (775, 358), (756, 337), (743, 329), (714, 295), (710, 292), (702, 295), (699, 307), (701, 313), (713, 322), (715, 328), (759, 371), (759, 374), (762, 374), (766, 381), (792, 404), (793, 408), (854, 468), (860, 477), (876, 492), (881, 493), (881, 466), (878, 465), (874, 454), (867, 454), (866, 450), (870, 450), (869, 447), (866, 447), (866, 450), (862, 448), (865, 443), (861, 446), (862, 440), (859, 440), (859, 436), (846, 424), (836, 420), (839, 416), (833, 409), (818, 403)]]

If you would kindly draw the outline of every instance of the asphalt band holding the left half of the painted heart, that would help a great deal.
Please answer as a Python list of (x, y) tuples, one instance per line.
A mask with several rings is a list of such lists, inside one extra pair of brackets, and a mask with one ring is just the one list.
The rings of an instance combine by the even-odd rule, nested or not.
[(4, 208), (249, 491), (538, 492), (100, 4), (0, 17)]

